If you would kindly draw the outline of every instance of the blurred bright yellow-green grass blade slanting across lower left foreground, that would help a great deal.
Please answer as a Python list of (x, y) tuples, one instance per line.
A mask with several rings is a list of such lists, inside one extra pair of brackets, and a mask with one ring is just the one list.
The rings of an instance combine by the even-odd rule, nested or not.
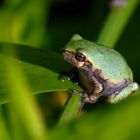
[[(11, 52), (13, 53), (13, 50)], [(46, 128), (19, 63), (10, 57), (5, 57), (4, 63), (8, 75), (7, 82), (12, 99), (11, 105), (15, 114), (21, 120), (32, 140), (46, 140)]]

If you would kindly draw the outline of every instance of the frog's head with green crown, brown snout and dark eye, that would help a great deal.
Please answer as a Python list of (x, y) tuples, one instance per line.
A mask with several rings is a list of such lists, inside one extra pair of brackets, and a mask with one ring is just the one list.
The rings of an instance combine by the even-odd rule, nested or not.
[(93, 42), (83, 39), (75, 34), (63, 48), (63, 56), (66, 61), (75, 67), (83, 68), (89, 61), (90, 49), (93, 48)]

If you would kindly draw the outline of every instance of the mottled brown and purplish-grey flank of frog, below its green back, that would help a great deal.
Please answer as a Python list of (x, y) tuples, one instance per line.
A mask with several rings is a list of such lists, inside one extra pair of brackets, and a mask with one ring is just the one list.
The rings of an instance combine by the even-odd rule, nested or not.
[(105, 79), (103, 77), (102, 70), (94, 68), (89, 61), (84, 63), (82, 69), (86, 73), (89, 81), (91, 81), (91, 84), (96, 84), (98, 82), (102, 85), (102, 90), (100, 92), (100, 87), (95, 86), (95, 89), (92, 93), (98, 94), (98, 96), (108, 96), (116, 92), (119, 93), (123, 88), (132, 83), (130, 79), (124, 79), (120, 83), (113, 83), (109, 81), (109, 79)]

